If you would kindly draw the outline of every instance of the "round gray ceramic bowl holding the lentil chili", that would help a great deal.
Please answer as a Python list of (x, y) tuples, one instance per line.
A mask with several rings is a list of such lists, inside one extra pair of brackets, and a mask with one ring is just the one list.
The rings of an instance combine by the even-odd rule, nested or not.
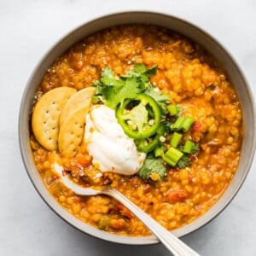
[(33, 94), (36, 87), (40, 83), (49, 66), (55, 61), (56, 57), (61, 55), (67, 48), (78, 42), (80, 39), (97, 32), (109, 26), (127, 24), (127, 23), (148, 23), (165, 26), (173, 31), (179, 32), (188, 38), (191, 38), (198, 44), (201, 44), (205, 49), (214, 55), (224, 69), (229, 73), (230, 79), (236, 86), (236, 92), (241, 101), (241, 108), (243, 113), (244, 122), (244, 139), (242, 143), (241, 160), (236, 175), (230, 184), (230, 187), (225, 191), (224, 195), (211, 208), (206, 214), (198, 218), (193, 223), (184, 226), (173, 233), (176, 236), (184, 236), (190, 232), (201, 228), (207, 224), (212, 218), (216, 217), (219, 212), (224, 210), (230, 201), (234, 198), (237, 191), (241, 188), (244, 182), (249, 167), (253, 160), (253, 153), (255, 149), (255, 113), (253, 105), (253, 96), (249, 90), (246, 79), (241, 73), (240, 68), (237, 66), (236, 61), (228, 53), (223, 46), (221, 46), (215, 39), (213, 39), (207, 32), (202, 31), (200, 28), (191, 25), (189, 22), (177, 19), (170, 15), (164, 15), (151, 12), (126, 12), (113, 15), (107, 15), (96, 20), (92, 20), (83, 26), (75, 29), (61, 39), (53, 48), (49, 49), (48, 53), (44, 55), (43, 59), (39, 61), (38, 66), (32, 73), (29, 79), (22, 102), (20, 105), (20, 120), (19, 120), (19, 136), (20, 136), (20, 150), (23, 157), (26, 171), (32, 180), (35, 188), (38, 190), (39, 195), (42, 196), (44, 201), (55, 211), (61, 218), (72, 224), (75, 228), (83, 231), (91, 236), (96, 236), (107, 241), (114, 241), (125, 244), (152, 244), (158, 242), (154, 236), (149, 237), (124, 237), (109, 234), (102, 230), (96, 230), (88, 224), (74, 218), (73, 215), (64, 210), (55, 199), (49, 195), (44, 183), (38, 174), (32, 159), (32, 150), (29, 144), (29, 119), (32, 110)]

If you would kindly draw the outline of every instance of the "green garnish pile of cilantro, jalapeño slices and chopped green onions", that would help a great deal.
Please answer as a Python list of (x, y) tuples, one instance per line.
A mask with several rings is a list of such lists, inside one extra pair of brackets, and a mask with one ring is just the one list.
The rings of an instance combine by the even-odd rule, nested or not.
[(148, 154), (137, 175), (154, 181), (166, 176), (166, 166), (190, 166), (190, 156), (199, 150), (199, 143), (183, 140), (195, 120), (183, 116), (182, 107), (170, 104), (170, 97), (151, 84), (149, 76), (156, 72), (157, 67), (136, 64), (117, 77), (110, 67), (104, 68), (94, 83), (93, 98), (115, 110), (125, 134), (135, 139), (137, 150)]

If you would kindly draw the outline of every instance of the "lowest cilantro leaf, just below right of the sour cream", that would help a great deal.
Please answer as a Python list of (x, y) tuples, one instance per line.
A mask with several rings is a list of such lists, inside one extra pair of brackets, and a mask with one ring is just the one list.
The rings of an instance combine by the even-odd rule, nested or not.
[(160, 158), (155, 158), (153, 155), (148, 154), (148, 157), (143, 163), (143, 166), (137, 172), (137, 175), (142, 179), (148, 179), (152, 173), (157, 173), (160, 178), (166, 176), (166, 167)]

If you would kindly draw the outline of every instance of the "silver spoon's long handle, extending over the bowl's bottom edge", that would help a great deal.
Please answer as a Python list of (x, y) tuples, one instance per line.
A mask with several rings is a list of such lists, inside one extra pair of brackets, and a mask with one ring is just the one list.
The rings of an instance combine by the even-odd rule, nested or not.
[(195, 251), (188, 247), (176, 236), (172, 235), (172, 232), (166, 230), (153, 218), (151, 218), (146, 212), (144, 212), (140, 207), (137, 207), (133, 202), (122, 195), (118, 190), (113, 188), (104, 189), (102, 194), (110, 195), (119, 202), (121, 202), (125, 207), (127, 207), (134, 215), (139, 218), (143, 224), (145, 224), (149, 230), (151, 230), (155, 236), (166, 246), (166, 248), (174, 256), (200, 256), (200, 254), (195, 253)]

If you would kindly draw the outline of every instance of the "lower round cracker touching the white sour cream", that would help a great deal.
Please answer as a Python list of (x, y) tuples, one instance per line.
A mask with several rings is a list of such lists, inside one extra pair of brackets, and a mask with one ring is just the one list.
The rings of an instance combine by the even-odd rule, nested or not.
[(59, 151), (65, 157), (73, 157), (79, 151), (84, 137), (85, 115), (90, 104), (74, 110), (63, 122), (59, 134)]

